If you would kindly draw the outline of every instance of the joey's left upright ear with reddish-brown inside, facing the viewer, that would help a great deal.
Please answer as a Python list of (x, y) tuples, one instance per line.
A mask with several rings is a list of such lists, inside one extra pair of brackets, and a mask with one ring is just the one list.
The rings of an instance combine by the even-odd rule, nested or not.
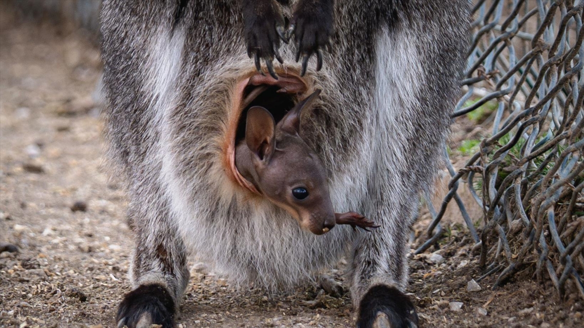
[(272, 155), (275, 148), (274, 117), (267, 109), (253, 106), (245, 123), (245, 142), (260, 160)]

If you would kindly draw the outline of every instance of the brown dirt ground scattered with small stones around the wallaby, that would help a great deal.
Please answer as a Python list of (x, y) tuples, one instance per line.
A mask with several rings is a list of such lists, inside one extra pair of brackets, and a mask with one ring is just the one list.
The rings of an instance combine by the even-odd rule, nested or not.
[[(3, 1), (2, 1), (3, 2)], [(1, 4), (0, 4), (1, 5)], [(78, 33), (19, 23), (0, 8), (0, 327), (113, 327), (129, 290), (126, 201), (107, 179), (98, 104), (99, 52)], [(416, 225), (422, 230), (427, 220)], [(529, 267), (492, 290), (453, 224), (440, 256), (411, 256), (420, 327), (582, 327), (582, 300), (561, 300)], [(234, 291), (193, 263), (179, 327), (350, 327), (349, 295), (318, 287)], [(331, 273), (342, 281), (342, 268)], [(460, 309), (457, 303), (461, 302)]]

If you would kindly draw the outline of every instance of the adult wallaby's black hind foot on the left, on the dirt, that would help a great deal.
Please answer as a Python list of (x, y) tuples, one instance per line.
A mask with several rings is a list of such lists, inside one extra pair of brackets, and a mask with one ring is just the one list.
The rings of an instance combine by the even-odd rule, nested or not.
[(141, 285), (126, 294), (117, 310), (117, 327), (142, 328), (161, 324), (162, 328), (173, 328), (175, 302), (171, 294), (161, 285)]

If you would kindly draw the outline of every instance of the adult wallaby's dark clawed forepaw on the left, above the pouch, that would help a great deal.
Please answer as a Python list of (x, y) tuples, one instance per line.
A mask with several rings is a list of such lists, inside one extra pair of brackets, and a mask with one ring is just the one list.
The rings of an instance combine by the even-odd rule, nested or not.
[[(248, 46), (248, 56), (255, 61), (256, 69), (262, 72), (263, 59), (267, 71), (274, 79), (278, 79), (274, 71), (274, 57), (283, 63), (280, 56), (280, 39), (284, 39), (284, 17), (273, 1), (251, 2), (243, 8), (245, 21), (245, 41)], [(285, 39), (284, 39), (285, 40)]]

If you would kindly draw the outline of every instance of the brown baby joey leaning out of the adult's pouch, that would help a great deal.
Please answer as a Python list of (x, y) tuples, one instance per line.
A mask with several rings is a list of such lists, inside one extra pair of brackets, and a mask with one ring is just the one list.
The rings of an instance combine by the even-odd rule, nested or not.
[(251, 107), (245, 140), (235, 148), (237, 173), (252, 192), (288, 211), (301, 227), (315, 235), (330, 231), (335, 224), (348, 224), (353, 229), (358, 226), (365, 231), (379, 228), (356, 212), (333, 211), (324, 165), (300, 137), (301, 117), (320, 92), (296, 104), (277, 125), (268, 110)]

